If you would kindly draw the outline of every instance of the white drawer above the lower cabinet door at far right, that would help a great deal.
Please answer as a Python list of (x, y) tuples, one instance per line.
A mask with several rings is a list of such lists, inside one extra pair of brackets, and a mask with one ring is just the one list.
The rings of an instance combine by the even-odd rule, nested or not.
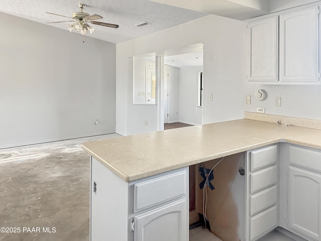
[(290, 163), (321, 171), (321, 152), (289, 146)]

